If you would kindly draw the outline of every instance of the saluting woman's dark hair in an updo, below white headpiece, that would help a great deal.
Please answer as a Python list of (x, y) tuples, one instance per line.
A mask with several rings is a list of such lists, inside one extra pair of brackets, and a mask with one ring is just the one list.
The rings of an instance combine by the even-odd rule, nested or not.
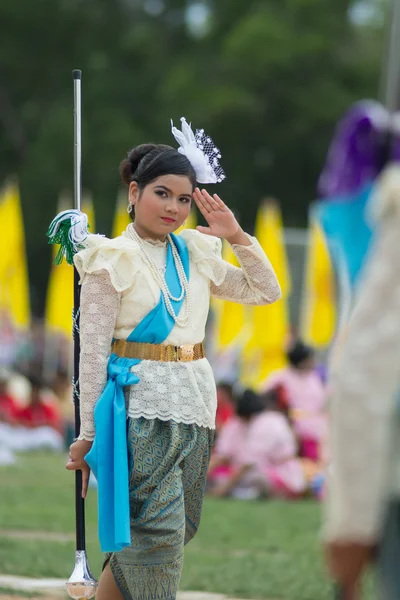
[(196, 173), (186, 156), (164, 144), (132, 148), (121, 162), (119, 172), (126, 185), (136, 181), (140, 190), (162, 175), (184, 175), (196, 186)]

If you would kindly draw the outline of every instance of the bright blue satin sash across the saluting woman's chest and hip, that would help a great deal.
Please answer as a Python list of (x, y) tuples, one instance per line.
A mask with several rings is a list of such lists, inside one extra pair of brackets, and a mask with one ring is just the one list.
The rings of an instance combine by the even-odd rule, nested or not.
[[(189, 253), (185, 241), (171, 235), (189, 279)], [(171, 294), (181, 293), (178, 273), (170, 244), (167, 250), (165, 280)], [(179, 314), (183, 300), (171, 300)], [(162, 344), (175, 325), (160, 294), (157, 306), (135, 327), (129, 342)], [(85, 459), (98, 483), (98, 532), (103, 552), (118, 552), (131, 543), (129, 513), (129, 467), (127, 447), (127, 415), (123, 388), (134, 385), (139, 378), (130, 371), (139, 359), (111, 354), (108, 361), (107, 384), (94, 410), (96, 436)]]

